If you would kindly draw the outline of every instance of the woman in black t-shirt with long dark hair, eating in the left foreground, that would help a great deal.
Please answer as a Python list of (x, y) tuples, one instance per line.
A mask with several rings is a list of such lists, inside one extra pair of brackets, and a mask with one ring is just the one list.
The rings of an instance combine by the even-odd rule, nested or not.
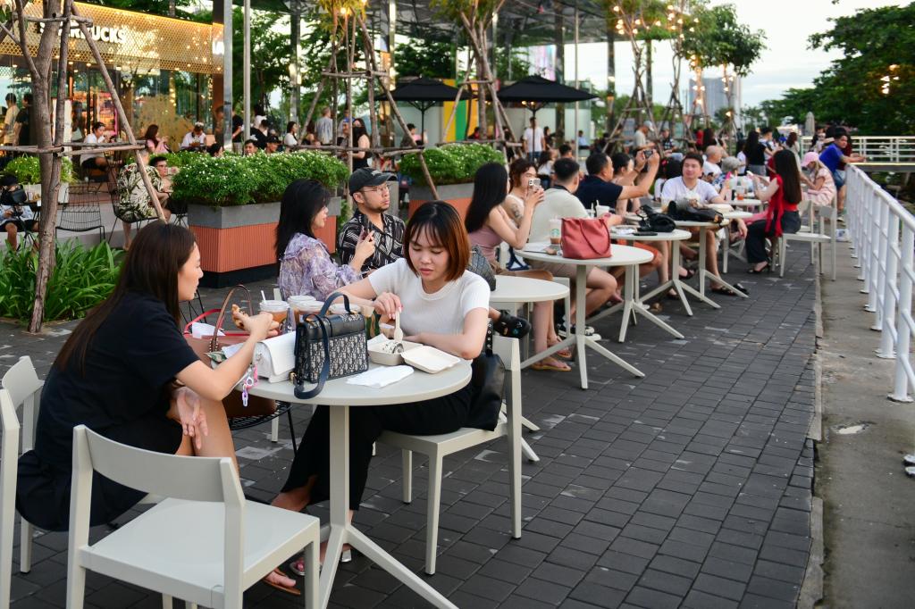
[[(159, 453), (235, 460), (221, 400), (276, 324), (266, 313), (236, 315), (251, 337), (210, 369), (178, 326), (178, 302), (194, 296), (202, 274), (189, 230), (164, 222), (140, 230), (113, 293), (76, 327), (48, 372), (35, 450), (19, 458), (16, 509), (29, 522), (50, 530), (69, 525), (76, 425)], [(117, 518), (143, 495), (95, 475), (91, 524)]]

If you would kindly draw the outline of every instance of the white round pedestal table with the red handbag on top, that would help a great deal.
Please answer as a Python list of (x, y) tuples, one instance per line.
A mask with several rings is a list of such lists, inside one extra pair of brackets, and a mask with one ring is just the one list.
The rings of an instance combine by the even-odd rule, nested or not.
[[(611, 266), (624, 266), (626, 267), (626, 281), (630, 282), (630, 273), (635, 272), (640, 264), (651, 261), (651, 252), (640, 250), (638, 248), (633, 248), (629, 245), (616, 245), (614, 244), (610, 248), (610, 257), (609, 258), (593, 258), (591, 260), (576, 260), (574, 258), (565, 258), (563, 256), (552, 256), (544, 251), (529, 251), (524, 250), (521, 252), (522, 257), (525, 260), (533, 260), (538, 262), (554, 262), (556, 264), (572, 264), (576, 267), (576, 282), (575, 282), (575, 294), (576, 294), (576, 312), (575, 312), (575, 328), (576, 331), (574, 334), (566, 337), (565, 340), (560, 341), (558, 345), (554, 345), (557, 349), (569, 347), (572, 345), (576, 346), (577, 356), (578, 356), (578, 371), (581, 375), (581, 388), (587, 389), (587, 359), (585, 355), (585, 347), (591, 347), (597, 353), (608, 358), (613, 363), (622, 367), (623, 369), (629, 370), (632, 374), (637, 377), (644, 377), (644, 373), (640, 369), (635, 368), (625, 359), (620, 358), (618, 355), (610, 352), (610, 350), (603, 345), (597, 343), (591, 337), (585, 336), (585, 294), (586, 294), (586, 284), (587, 284), (587, 270), (588, 267), (592, 266), (601, 266), (601, 267), (611, 267)], [(632, 298), (632, 291), (626, 291), (626, 297)], [(633, 299), (634, 301), (634, 299)], [(596, 315), (595, 319), (599, 319), (602, 315)]]

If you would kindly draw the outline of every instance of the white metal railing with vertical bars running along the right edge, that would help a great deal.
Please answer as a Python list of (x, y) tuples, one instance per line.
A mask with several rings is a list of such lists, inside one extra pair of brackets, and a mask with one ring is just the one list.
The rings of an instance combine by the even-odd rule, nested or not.
[(880, 331), (877, 356), (895, 358), (893, 391), (889, 399), (912, 401), (915, 388), (911, 340), (912, 284), (915, 283), (915, 217), (895, 198), (856, 166), (846, 171), (846, 222), (857, 259), (858, 279), (867, 294), (865, 310), (874, 314), (874, 330)]

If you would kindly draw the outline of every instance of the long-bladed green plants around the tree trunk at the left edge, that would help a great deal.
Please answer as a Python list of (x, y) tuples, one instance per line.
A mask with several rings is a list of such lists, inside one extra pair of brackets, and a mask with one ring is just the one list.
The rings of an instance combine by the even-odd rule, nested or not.
[[(112, 250), (104, 241), (91, 249), (78, 240), (59, 242), (45, 295), (45, 321), (81, 317), (101, 303), (114, 289), (123, 258), (123, 251)], [(6, 247), (0, 258), (0, 316), (28, 321), (35, 305), (37, 268), (36, 251)]]

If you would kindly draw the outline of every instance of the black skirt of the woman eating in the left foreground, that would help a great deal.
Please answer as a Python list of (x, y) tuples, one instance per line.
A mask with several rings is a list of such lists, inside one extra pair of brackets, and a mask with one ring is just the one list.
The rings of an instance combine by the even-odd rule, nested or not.
[[(161, 413), (97, 431), (115, 442), (165, 454), (175, 454), (182, 438), (181, 425)], [(71, 475), (71, 465), (45, 463), (35, 451), (23, 454), (19, 457), (16, 510), (41, 529), (69, 529)], [(145, 495), (145, 491), (93, 474), (90, 526), (111, 522), (133, 508)]]

